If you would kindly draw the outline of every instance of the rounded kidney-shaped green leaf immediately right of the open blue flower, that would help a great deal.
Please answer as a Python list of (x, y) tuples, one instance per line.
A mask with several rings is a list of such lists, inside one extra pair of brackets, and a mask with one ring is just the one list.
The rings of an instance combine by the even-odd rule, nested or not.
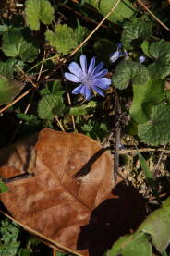
[(114, 86), (120, 90), (128, 87), (129, 82), (136, 85), (144, 84), (148, 81), (149, 74), (145, 66), (139, 62), (122, 60), (115, 68), (112, 77)]

